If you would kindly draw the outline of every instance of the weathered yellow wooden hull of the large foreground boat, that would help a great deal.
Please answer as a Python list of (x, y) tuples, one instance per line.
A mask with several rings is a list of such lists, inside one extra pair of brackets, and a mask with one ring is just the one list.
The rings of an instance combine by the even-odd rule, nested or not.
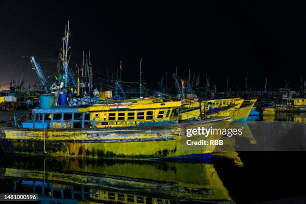
[[(211, 153), (214, 145), (187, 149), (187, 128), (210, 127), (220, 124), (215, 118), (162, 126), (117, 128), (25, 129), (2, 128), (0, 146), (4, 152), (31, 155), (51, 155), (93, 158), (183, 158)], [(220, 124), (223, 125), (223, 124)], [(226, 128), (223, 127), (222, 128)], [(195, 135), (193, 138), (196, 138)], [(221, 135), (210, 135), (218, 139)]]

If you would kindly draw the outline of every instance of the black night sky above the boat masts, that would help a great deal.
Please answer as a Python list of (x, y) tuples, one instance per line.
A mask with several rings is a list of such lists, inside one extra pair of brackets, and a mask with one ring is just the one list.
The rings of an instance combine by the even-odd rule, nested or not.
[[(248, 83), (262, 89), (297, 88), (306, 67), (306, 5), (302, 1), (0, 2), (0, 85), (13, 78), (31, 81), (35, 73), (21, 56), (55, 58), (64, 26), (70, 20), (71, 57), (81, 61), (91, 50), (93, 69), (115, 72), (123, 61), (123, 79), (136, 81), (142, 57), (144, 81), (151, 87), (161, 75), (188, 69), (207, 72), (212, 85), (224, 89)], [(40, 62), (45, 75), (55, 64)], [(28, 68), (29, 67), (29, 68)]]

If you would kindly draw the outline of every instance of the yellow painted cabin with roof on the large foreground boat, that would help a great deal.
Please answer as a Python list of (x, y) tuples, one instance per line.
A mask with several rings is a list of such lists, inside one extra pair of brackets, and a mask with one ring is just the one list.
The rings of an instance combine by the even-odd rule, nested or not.
[(152, 121), (177, 121), (179, 107), (188, 100), (132, 103), (114, 105), (93, 105), (78, 108), (80, 112), (90, 112), (90, 120), (97, 122), (95, 127), (133, 126)]

